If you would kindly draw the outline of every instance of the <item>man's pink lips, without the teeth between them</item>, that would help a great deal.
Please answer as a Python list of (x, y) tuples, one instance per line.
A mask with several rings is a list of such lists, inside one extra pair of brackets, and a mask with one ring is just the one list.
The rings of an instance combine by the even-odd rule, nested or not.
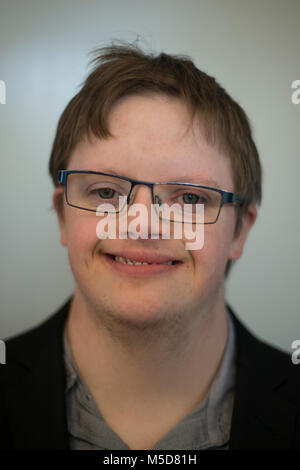
[[(105, 253), (102, 256), (105, 258), (106, 262), (115, 272), (121, 275), (123, 274), (126, 276), (133, 276), (133, 277), (170, 274), (171, 272), (174, 272), (174, 270), (177, 270), (180, 266), (183, 265), (182, 262), (179, 262), (179, 263), (172, 264), (172, 265), (157, 263), (157, 264), (141, 264), (141, 265), (136, 266), (133, 264), (123, 264), (123, 263), (119, 263), (115, 261), (114, 256), (119, 256), (119, 255), (110, 255), (110, 254)], [(123, 255), (120, 255), (120, 256), (123, 256)], [(123, 256), (123, 258), (129, 258), (129, 256)], [(157, 255), (156, 255), (156, 258), (157, 258)], [(148, 262), (145, 259), (143, 260), (145, 262)], [(135, 259), (134, 261), (139, 261), (139, 260)], [(165, 259), (165, 261), (170, 261), (170, 258)], [(161, 263), (163, 262), (164, 261), (162, 261)]]

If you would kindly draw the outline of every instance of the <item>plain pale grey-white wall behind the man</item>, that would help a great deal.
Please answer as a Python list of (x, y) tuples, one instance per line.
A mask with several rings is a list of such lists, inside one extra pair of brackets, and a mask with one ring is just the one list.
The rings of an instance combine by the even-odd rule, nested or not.
[(51, 315), (72, 274), (51, 211), (57, 121), (112, 39), (190, 55), (247, 112), (264, 171), (263, 203), (227, 299), (257, 336), (291, 352), (300, 338), (299, 0), (0, 1), (0, 338)]

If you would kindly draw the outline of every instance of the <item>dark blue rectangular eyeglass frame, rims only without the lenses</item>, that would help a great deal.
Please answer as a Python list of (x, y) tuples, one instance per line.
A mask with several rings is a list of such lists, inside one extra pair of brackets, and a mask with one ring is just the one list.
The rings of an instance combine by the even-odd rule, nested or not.
[(67, 180), (68, 180), (68, 175), (73, 174), (73, 173), (84, 173), (84, 174), (111, 176), (113, 178), (118, 178), (118, 179), (121, 179), (121, 180), (128, 181), (129, 183), (131, 183), (131, 188), (130, 188), (130, 191), (129, 191), (128, 196), (127, 196), (127, 204), (128, 205), (130, 204), (130, 196), (131, 196), (131, 193), (132, 193), (132, 189), (134, 188), (134, 186), (137, 186), (137, 185), (140, 185), (140, 184), (142, 184), (144, 186), (148, 186), (151, 189), (152, 203), (153, 204), (155, 204), (155, 202), (154, 202), (154, 186), (159, 185), (159, 184), (169, 184), (169, 185), (180, 184), (180, 185), (188, 186), (188, 187), (204, 188), (204, 189), (210, 189), (210, 190), (216, 191), (219, 194), (221, 194), (221, 201), (220, 201), (219, 211), (218, 211), (216, 220), (214, 222), (203, 222), (204, 224), (215, 224), (218, 221), (221, 209), (222, 209), (224, 204), (233, 204), (235, 206), (239, 206), (239, 205), (243, 204), (243, 199), (240, 196), (238, 196), (237, 194), (231, 193), (229, 191), (225, 191), (224, 189), (213, 188), (211, 186), (204, 186), (204, 185), (201, 185), (201, 184), (193, 184), (193, 183), (187, 183), (187, 182), (181, 182), (181, 181), (166, 181), (166, 182), (142, 181), (142, 180), (135, 180), (135, 179), (132, 179), (132, 178), (127, 178), (126, 176), (118, 176), (118, 175), (112, 175), (110, 173), (103, 173), (103, 172), (100, 172), (100, 171), (59, 170), (59, 172), (57, 174), (57, 181), (58, 181), (59, 184), (64, 185), (65, 197), (66, 197), (67, 204), (69, 206), (76, 207), (77, 209), (82, 209), (82, 210), (90, 211), (90, 212), (97, 212), (97, 210), (87, 209), (86, 207), (81, 207), (81, 206), (75, 206), (74, 204), (71, 204), (68, 200)]

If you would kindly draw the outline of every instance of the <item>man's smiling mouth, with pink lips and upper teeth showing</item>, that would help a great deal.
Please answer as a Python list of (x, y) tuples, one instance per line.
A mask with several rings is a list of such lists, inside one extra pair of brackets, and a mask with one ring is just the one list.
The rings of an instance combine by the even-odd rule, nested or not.
[[(161, 260), (156, 256), (155, 261), (150, 261), (149, 255), (144, 256), (144, 258), (142, 256), (125, 258), (124, 256), (105, 253), (104, 257), (108, 264), (117, 272), (133, 276), (169, 273), (183, 264), (180, 260), (165, 259), (166, 256), (160, 257)], [(134, 258), (139, 259), (137, 260)]]

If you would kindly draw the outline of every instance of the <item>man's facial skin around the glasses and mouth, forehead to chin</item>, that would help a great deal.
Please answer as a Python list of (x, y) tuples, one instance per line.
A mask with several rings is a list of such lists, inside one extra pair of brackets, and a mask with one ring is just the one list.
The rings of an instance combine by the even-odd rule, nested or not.
[[(181, 181), (204, 184), (234, 192), (229, 160), (210, 146), (195, 121), (187, 131), (189, 114), (177, 99), (164, 95), (130, 96), (120, 101), (110, 115), (113, 137), (81, 142), (68, 170), (115, 173), (143, 181)], [(56, 189), (54, 200), (61, 188)], [(151, 192), (134, 188), (134, 203), (150, 212)], [(220, 296), (228, 259), (237, 259), (254, 212), (241, 236), (233, 240), (235, 208), (225, 205), (215, 224), (204, 226), (204, 246), (186, 250), (186, 240), (100, 240), (99, 217), (68, 206), (60, 219), (61, 241), (68, 247), (71, 268), (81, 297), (98, 312), (134, 325), (146, 325), (177, 314), (194, 314), (222, 302)], [(132, 217), (131, 217), (132, 218)], [(128, 216), (128, 221), (130, 217)], [(111, 253), (161, 253), (179, 260), (161, 272), (133, 275), (121, 272), (107, 258)], [(130, 268), (130, 267), (129, 267)], [(142, 271), (140, 271), (142, 273)]]

